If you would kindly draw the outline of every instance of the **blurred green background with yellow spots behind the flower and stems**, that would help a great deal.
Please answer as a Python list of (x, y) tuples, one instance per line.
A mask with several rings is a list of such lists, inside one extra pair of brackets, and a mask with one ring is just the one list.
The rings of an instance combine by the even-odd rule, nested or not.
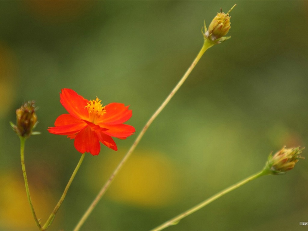
[[(37, 230), (19, 139), (9, 121), (28, 100), (39, 136), (26, 168), (44, 223), (80, 153), (47, 132), (65, 113), (62, 88), (131, 105), (138, 134), (202, 47), (222, 7), (232, 38), (209, 49), (148, 129), (81, 230), (149, 230), (259, 171), (270, 152), (308, 144), (307, 1), (0, 2), (0, 230)], [(50, 230), (72, 230), (136, 135), (87, 154)], [(303, 151), (306, 156), (306, 151)], [(167, 230), (302, 230), (307, 160), (255, 180)]]

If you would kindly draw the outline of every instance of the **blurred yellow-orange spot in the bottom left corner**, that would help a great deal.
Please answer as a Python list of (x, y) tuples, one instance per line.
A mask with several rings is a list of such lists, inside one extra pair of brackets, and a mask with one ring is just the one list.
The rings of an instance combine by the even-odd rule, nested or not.
[[(37, 230), (26, 196), (22, 175), (15, 172), (0, 172), (0, 229)], [(38, 219), (47, 220), (55, 203), (43, 187), (29, 185), (31, 199)]]

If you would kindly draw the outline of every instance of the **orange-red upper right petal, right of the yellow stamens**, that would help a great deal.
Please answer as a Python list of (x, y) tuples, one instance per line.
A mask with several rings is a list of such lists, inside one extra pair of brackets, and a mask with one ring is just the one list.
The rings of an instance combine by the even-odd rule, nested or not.
[[(123, 103), (109, 103), (105, 106), (106, 114), (98, 124), (122, 124), (132, 117), (132, 110), (128, 110), (129, 106)], [(102, 126), (103, 127), (103, 126)]]

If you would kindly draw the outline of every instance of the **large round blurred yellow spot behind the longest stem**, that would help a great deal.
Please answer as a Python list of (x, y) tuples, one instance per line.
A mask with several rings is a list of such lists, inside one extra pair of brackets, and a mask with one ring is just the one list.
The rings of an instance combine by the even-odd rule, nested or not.
[[(98, 163), (102, 177), (95, 182), (101, 187), (123, 155), (112, 154)], [(95, 173), (96, 175), (99, 173)], [(161, 207), (173, 203), (179, 192), (180, 176), (174, 164), (157, 152), (134, 152), (111, 184), (106, 196), (115, 201), (143, 207)]]

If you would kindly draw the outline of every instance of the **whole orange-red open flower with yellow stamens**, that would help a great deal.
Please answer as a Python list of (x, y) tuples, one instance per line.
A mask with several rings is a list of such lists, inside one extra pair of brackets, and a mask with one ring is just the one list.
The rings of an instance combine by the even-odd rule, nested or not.
[(69, 114), (60, 115), (55, 127), (49, 127), (48, 131), (75, 139), (78, 152), (98, 155), (99, 141), (116, 151), (118, 148), (111, 136), (126, 139), (135, 132), (133, 126), (123, 124), (132, 117), (132, 110), (123, 103), (109, 103), (103, 107), (97, 97), (87, 100), (67, 88), (60, 93), (60, 103)]

